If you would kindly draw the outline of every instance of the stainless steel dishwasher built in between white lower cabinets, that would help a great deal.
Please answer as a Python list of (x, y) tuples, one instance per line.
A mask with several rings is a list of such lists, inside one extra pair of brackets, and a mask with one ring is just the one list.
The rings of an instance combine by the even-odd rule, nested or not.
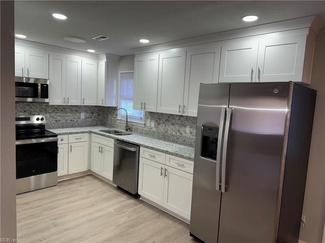
[(138, 174), (139, 146), (115, 140), (113, 183), (139, 198)]

